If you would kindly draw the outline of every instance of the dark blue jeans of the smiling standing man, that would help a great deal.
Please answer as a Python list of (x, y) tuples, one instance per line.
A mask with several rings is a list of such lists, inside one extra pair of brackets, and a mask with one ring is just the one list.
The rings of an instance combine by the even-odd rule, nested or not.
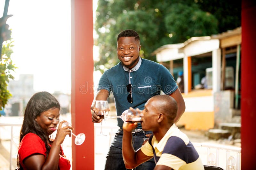
[[(143, 138), (147, 138), (145, 134), (149, 133), (152, 133), (152, 131), (132, 133), (132, 144), (135, 151), (142, 146), (142, 143), (144, 142)], [(123, 130), (118, 130), (106, 157), (105, 170), (126, 170), (122, 155), (122, 140)], [(140, 164), (133, 170), (153, 170), (155, 166), (154, 158), (152, 158), (147, 162)]]

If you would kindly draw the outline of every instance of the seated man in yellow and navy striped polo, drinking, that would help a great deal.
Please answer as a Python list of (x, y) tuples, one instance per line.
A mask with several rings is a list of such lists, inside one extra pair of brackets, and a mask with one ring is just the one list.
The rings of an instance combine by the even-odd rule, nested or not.
[(150, 98), (142, 113), (142, 129), (153, 131), (154, 135), (135, 151), (132, 146), (132, 130), (138, 124), (123, 124), (123, 157), (127, 169), (135, 168), (154, 157), (154, 170), (204, 170), (202, 161), (187, 135), (174, 124), (177, 102), (171, 96), (157, 95)]

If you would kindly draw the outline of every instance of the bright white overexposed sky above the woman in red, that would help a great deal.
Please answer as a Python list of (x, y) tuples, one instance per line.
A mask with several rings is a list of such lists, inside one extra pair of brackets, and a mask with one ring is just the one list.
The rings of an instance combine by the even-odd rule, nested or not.
[[(5, 0), (0, 0), (0, 16)], [(96, 4), (96, 5), (95, 5)], [(93, 0), (93, 11), (97, 0)], [(71, 93), (70, 0), (10, 0), (11, 56), (20, 74), (34, 74), (35, 91)], [(96, 53), (94, 51), (94, 53)]]

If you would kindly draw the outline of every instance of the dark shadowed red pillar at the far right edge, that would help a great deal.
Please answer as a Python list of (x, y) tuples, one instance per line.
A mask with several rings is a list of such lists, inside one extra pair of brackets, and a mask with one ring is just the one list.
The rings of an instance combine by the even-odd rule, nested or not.
[(256, 153), (256, 1), (242, 0), (241, 140), (242, 169), (253, 169)]

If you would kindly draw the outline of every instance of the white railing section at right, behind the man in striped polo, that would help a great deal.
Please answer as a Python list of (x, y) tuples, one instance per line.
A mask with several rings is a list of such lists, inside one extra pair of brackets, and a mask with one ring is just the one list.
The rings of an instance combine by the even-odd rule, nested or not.
[[(200, 152), (202, 153), (202, 149), (207, 149), (206, 165), (219, 166), (226, 170), (241, 169), (240, 147), (220, 145), (214, 143), (193, 143), (193, 145), (195, 146), (199, 155)], [(201, 155), (200, 157), (202, 159)], [(205, 159), (203, 160), (203, 163), (205, 165)]]

